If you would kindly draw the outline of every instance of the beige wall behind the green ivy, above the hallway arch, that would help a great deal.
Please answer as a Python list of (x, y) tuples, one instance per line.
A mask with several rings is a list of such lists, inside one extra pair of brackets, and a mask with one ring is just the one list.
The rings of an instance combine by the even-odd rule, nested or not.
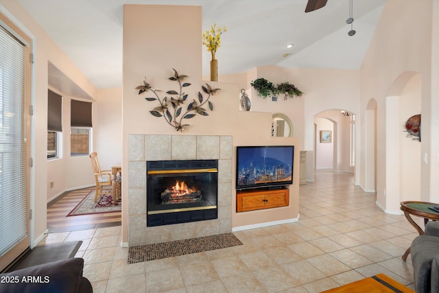
[[(346, 69), (284, 69), (278, 66), (257, 67), (248, 71), (247, 87), (252, 101), (252, 111), (265, 113), (283, 113), (292, 120), (294, 137), (300, 138), (300, 149), (307, 150), (307, 180), (314, 178), (314, 120), (313, 117), (331, 109), (348, 110), (351, 113), (359, 112), (359, 71)], [(272, 102), (271, 97), (263, 99), (257, 95), (250, 86), (256, 78), (266, 78), (274, 84), (291, 82), (304, 94), (301, 97), (284, 100), (278, 97), (277, 102)], [(337, 112), (340, 113), (340, 112)], [(332, 117), (340, 122), (340, 117)], [(354, 172), (349, 166), (349, 154), (346, 153), (349, 138), (348, 125), (339, 129), (338, 161), (336, 171)], [(344, 134), (344, 135), (342, 135)], [(347, 146), (348, 148), (348, 146)], [(329, 167), (329, 165), (327, 165)]]

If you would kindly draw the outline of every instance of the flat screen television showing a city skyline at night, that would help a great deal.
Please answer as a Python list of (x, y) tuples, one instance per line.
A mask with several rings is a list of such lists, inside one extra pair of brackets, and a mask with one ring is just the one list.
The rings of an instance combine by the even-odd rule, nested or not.
[(237, 146), (236, 189), (293, 183), (294, 145)]

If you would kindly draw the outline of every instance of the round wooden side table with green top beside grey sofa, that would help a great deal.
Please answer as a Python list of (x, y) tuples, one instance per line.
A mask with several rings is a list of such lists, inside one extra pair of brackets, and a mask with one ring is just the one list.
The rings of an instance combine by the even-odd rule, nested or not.
[[(401, 211), (404, 212), (405, 218), (414, 226), (416, 231), (418, 231), (419, 235), (423, 235), (424, 231), (414, 220), (411, 215), (415, 215), (416, 217), (424, 218), (424, 224), (427, 224), (429, 220), (438, 221), (439, 220), (439, 212), (432, 211), (429, 209), (430, 207), (438, 207), (439, 204), (435, 204), (432, 202), (418, 202), (418, 201), (406, 201), (401, 202)], [(410, 253), (410, 247), (405, 250), (404, 255), (402, 256), (403, 261), (407, 260), (407, 256)]]

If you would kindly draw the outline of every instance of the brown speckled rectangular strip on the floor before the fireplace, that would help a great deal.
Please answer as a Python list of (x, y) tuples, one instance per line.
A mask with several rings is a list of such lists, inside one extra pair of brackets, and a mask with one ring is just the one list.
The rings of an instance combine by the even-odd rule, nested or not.
[(178, 257), (179, 255), (189, 255), (191, 253), (201, 253), (203, 251), (239, 245), (242, 245), (242, 243), (233, 233), (225, 233), (171, 242), (131, 246), (128, 250), (128, 263)]

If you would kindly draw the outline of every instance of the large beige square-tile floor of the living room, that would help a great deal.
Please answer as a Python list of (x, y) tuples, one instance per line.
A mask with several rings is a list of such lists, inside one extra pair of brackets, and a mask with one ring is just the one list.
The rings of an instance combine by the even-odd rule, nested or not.
[(353, 175), (320, 171), (300, 186), (300, 220), (235, 232), (243, 246), (128, 264), (121, 227), (51, 233), (44, 243), (82, 240), (84, 277), (94, 292), (320, 292), (384, 273), (413, 288), (416, 237), (388, 215)]

